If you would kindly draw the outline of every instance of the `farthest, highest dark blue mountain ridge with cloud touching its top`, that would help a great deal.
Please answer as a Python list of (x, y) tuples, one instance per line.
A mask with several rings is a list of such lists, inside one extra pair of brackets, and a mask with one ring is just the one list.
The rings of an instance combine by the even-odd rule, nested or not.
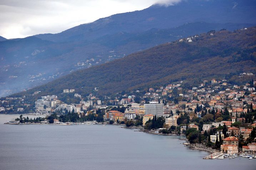
[(141, 32), (166, 29), (191, 22), (256, 23), (255, 0), (182, 0), (171, 6), (153, 5), (147, 9), (101, 18), (57, 34), (37, 37), (50, 41), (90, 40), (120, 31)]

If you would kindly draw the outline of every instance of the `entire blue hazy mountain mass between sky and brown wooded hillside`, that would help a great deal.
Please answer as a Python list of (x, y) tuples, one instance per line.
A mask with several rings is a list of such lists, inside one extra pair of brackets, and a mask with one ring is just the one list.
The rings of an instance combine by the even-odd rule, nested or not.
[(252, 27), (255, 2), (190, 0), (153, 5), (57, 34), (0, 41), (0, 96), (201, 32)]

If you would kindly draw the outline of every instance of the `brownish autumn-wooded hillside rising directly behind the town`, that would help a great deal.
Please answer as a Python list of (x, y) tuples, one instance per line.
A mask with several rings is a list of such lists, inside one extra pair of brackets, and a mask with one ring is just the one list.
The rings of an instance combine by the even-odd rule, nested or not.
[[(63, 96), (63, 89), (75, 89), (86, 96), (98, 87), (99, 95), (122, 90), (144, 90), (177, 81), (192, 86), (205, 79), (229, 78), (239, 84), (239, 74), (256, 70), (256, 27), (210, 31), (137, 52), (112, 62), (75, 71), (45, 85), (11, 96), (29, 96), (30, 101), (44, 95)], [(240, 82), (241, 83), (241, 82)], [(41, 91), (32, 96), (35, 91)]]

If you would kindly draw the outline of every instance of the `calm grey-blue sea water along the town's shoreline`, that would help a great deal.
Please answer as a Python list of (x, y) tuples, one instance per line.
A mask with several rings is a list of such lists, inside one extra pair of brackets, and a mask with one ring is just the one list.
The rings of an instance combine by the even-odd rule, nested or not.
[[(0, 170), (255, 170), (256, 159), (204, 160), (182, 137), (114, 125), (9, 125), (0, 115)], [(8, 118), (8, 119), (7, 119)], [(32, 116), (34, 118), (34, 116)]]

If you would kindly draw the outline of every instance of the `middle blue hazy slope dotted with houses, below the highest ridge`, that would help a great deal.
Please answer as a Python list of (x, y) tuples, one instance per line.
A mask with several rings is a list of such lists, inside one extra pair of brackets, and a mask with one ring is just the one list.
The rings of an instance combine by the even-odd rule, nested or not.
[(45, 84), (72, 70), (109, 62), (157, 44), (209, 30), (248, 26), (251, 25), (197, 22), (166, 30), (119, 32), (84, 42), (56, 43), (36, 37), (0, 42), (0, 96)]

